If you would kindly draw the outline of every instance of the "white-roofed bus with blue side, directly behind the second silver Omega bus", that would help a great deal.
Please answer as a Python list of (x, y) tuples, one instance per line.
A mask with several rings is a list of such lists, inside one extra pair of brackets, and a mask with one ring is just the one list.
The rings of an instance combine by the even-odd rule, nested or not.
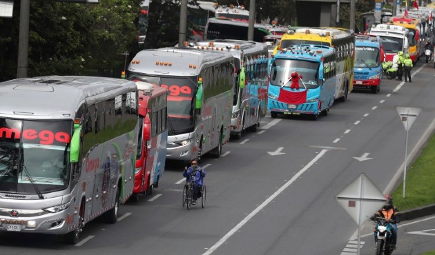
[(235, 88), (231, 136), (240, 139), (244, 130), (257, 131), (267, 114), (267, 45), (253, 41), (213, 40), (195, 44), (197, 49), (223, 48), (234, 57)]

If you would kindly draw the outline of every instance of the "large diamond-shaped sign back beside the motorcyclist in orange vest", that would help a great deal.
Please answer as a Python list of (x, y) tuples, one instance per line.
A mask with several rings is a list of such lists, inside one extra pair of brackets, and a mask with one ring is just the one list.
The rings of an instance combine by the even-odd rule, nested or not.
[(386, 201), (384, 194), (365, 174), (361, 174), (345, 187), (336, 200), (356, 224), (360, 225), (383, 207)]

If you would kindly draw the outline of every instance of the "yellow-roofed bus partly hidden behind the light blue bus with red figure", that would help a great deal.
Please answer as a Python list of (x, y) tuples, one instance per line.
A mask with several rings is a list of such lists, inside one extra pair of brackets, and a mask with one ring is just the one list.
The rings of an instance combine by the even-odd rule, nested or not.
[(294, 32), (289, 30), (282, 36), (276, 51), (300, 44), (325, 45), (336, 49), (335, 99), (345, 101), (354, 87), (354, 31), (344, 28), (298, 28)]

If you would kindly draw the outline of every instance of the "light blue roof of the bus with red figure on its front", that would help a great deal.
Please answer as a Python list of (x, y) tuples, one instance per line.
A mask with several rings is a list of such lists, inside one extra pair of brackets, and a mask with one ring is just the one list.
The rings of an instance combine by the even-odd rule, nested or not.
[(322, 45), (294, 45), (288, 50), (279, 50), (274, 59), (300, 59), (308, 61), (321, 61), (324, 57), (329, 57), (332, 54), (336, 54), (334, 48)]

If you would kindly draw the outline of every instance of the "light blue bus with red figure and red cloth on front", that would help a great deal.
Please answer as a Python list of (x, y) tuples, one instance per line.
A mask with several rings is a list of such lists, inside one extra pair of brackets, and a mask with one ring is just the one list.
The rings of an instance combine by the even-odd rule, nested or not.
[(278, 114), (326, 116), (336, 93), (336, 50), (322, 45), (295, 45), (271, 59), (267, 108)]

